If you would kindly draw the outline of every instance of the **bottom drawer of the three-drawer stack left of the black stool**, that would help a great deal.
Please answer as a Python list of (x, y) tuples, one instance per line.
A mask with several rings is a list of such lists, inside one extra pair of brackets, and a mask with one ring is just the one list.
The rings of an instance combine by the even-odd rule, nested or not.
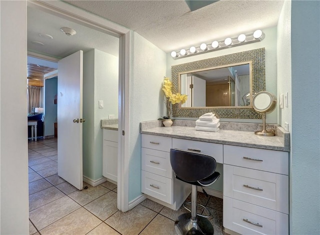
[(141, 170), (141, 191), (172, 204), (172, 179)]

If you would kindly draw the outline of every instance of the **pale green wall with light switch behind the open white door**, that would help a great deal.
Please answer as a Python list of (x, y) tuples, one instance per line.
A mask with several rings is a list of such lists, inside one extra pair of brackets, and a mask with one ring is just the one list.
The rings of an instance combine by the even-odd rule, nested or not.
[[(98, 107), (103, 100), (104, 107)], [(100, 120), (118, 113), (118, 57), (92, 49), (83, 53), (83, 175), (102, 177)]]

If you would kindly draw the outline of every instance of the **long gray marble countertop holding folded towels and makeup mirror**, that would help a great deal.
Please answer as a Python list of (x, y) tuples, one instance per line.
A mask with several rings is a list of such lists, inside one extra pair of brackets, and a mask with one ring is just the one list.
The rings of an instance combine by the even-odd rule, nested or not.
[(290, 150), (288, 133), (282, 136), (280, 134), (278, 136), (259, 136), (254, 134), (254, 131), (220, 129), (217, 132), (209, 132), (195, 130), (194, 126), (164, 127), (158, 123), (150, 125), (148, 122), (144, 126), (141, 122), (140, 127), (140, 132), (144, 134), (280, 151)]

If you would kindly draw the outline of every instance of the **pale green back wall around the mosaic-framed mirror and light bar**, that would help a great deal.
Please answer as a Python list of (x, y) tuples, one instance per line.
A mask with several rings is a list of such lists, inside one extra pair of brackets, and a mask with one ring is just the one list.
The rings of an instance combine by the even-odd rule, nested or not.
[[(265, 88), (267, 91), (273, 93), (276, 95), (276, 27), (270, 27), (270, 28), (261, 28), (261, 30), (265, 34), (265, 38), (260, 42), (245, 44), (245, 45), (239, 45), (234, 46), (226, 49), (206, 52), (198, 55), (192, 55), (185, 58), (179, 58), (179, 59), (173, 59), (170, 55), (170, 53), (167, 53), (167, 70), (166, 74), (168, 77), (171, 77), (171, 66), (211, 57), (217, 57), (221, 55), (226, 54), (232, 54), (240, 51), (245, 50), (252, 50), (264, 47), (265, 48)], [(232, 36), (232, 35), (230, 35)], [(219, 38), (212, 38), (213, 39), (219, 39)], [(183, 40), (183, 38), (181, 38)], [(176, 48), (177, 50), (180, 48)], [(221, 119), (223, 121), (223, 119)], [(249, 119), (243, 120), (243, 119), (228, 119), (227, 121), (251, 121)], [(262, 121), (261, 121), (262, 122)], [(277, 122), (277, 111), (274, 110), (273, 112), (266, 115), (266, 122), (267, 123), (276, 123)]]

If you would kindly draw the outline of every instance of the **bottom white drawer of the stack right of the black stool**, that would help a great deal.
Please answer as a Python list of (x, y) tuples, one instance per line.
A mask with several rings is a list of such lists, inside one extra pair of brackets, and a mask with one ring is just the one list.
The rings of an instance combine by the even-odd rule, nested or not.
[(288, 215), (223, 196), (223, 226), (240, 234), (288, 234)]

